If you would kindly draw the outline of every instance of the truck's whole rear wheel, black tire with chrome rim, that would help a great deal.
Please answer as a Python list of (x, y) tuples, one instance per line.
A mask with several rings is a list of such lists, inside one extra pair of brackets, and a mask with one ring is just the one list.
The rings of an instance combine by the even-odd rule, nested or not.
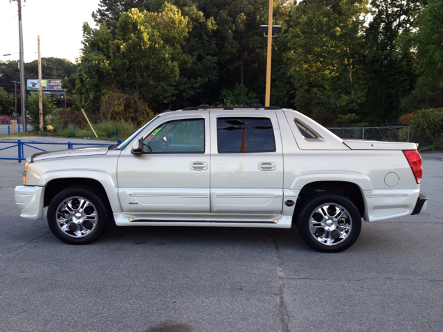
[(345, 196), (322, 193), (302, 203), (297, 229), (308, 246), (320, 252), (341, 252), (359, 238), (361, 215)]

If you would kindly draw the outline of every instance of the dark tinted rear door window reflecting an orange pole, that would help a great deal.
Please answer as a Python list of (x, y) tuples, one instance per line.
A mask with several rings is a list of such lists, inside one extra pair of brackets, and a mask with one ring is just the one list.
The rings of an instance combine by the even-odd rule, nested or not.
[(275, 152), (269, 118), (217, 118), (217, 142), (220, 154)]

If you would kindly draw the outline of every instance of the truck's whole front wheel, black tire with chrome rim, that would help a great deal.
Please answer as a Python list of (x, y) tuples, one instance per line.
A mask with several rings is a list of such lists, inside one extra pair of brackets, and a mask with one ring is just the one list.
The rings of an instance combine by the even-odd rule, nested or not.
[(73, 186), (55, 195), (49, 204), (47, 219), (51, 232), (60, 241), (87, 244), (108, 230), (111, 207), (100, 190), (87, 185)]

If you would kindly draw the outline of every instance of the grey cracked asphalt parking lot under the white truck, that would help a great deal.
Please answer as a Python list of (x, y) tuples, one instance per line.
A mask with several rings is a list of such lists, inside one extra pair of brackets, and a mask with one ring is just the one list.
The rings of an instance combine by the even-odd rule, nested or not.
[(422, 157), (426, 212), (365, 222), (339, 254), (266, 228), (111, 226), (69, 246), (20, 218), (24, 164), (0, 160), (0, 331), (441, 332), (443, 154)]

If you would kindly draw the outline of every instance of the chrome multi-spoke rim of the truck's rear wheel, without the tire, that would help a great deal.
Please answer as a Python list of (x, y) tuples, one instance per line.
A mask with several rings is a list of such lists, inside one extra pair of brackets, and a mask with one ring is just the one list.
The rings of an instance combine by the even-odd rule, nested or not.
[(349, 237), (352, 219), (343, 206), (325, 203), (309, 216), (309, 230), (316, 241), (325, 246), (336, 246)]

